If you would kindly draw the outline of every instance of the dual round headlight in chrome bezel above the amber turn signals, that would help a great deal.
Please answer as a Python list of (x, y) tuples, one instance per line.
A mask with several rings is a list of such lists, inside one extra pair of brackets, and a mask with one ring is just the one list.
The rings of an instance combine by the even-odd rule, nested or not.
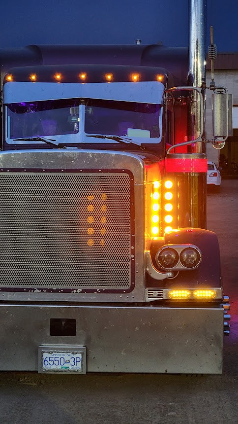
[(157, 264), (164, 269), (196, 268), (201, 262), (202, 254), (198, 247), (162, 247), (156, 254)]

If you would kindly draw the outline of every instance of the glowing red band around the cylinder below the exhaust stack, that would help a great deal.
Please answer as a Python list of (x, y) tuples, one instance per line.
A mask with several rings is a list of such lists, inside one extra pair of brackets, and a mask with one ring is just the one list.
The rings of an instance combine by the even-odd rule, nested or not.
[(207, 173), (208, 159), (198, 158), (166, 158), (166, 172)]

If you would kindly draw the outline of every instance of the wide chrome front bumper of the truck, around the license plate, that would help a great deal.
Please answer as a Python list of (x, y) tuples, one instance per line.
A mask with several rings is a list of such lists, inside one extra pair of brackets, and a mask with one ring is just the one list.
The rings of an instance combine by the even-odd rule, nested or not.
[[(50, 335), (50, 319), (75, 320), (76, 335)], [(86, 372), (222, 373), (222, 308), (4, 304), (0, 320), (4, 371), (37, 371), (40, 346), (74, 345)]]

